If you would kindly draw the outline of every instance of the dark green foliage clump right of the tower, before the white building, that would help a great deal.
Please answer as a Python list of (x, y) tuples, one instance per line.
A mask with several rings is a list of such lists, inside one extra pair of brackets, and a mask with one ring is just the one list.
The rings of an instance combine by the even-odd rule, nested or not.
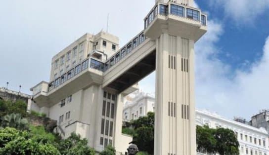
[(239, 155), (235, 133), (226, 128), (196, 127), (197, 152), (219, 155)]

